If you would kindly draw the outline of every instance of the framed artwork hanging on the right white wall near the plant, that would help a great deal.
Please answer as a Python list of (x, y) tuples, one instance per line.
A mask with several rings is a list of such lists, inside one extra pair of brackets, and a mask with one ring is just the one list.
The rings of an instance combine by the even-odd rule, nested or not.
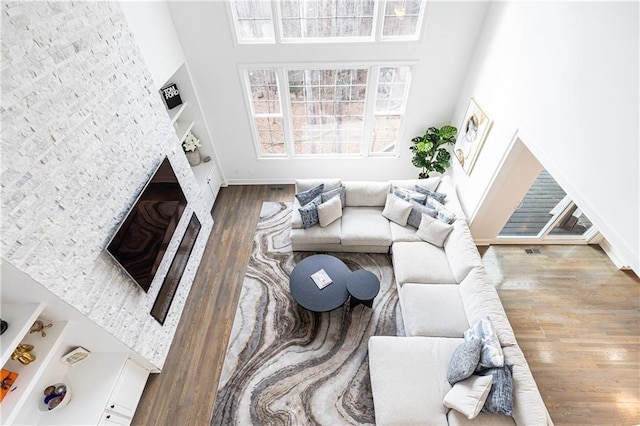
[(471, 98), (454, 148), (456, 158), (468, 175), (471, 174), (492, 124), (475, 98)]

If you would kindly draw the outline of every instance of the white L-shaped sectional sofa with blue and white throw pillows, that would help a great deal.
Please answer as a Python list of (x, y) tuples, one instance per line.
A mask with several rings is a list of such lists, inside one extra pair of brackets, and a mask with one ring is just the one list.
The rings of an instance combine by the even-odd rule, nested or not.
[[(552, 424), (495, 287), (484, 271), (451, 179), (299, 180), (296, 193), (319, 183), (324, 184), (324, 191), (344, 186), (342, 217), (325, 227), (304, 229), (300, 203), (295, 200), (290, 234), (293, 250), (392, 253), (405, 336), (373, 336), (369, 340), (376, 423)], [(456, 219), (443, 247), (421, 239), (415, 227), (402, 226), (383, 215), (390, 192), (396, 188), (414, 190), (416, 185), (447, 194), (444, 206)], [(465, 331), (487, 317), (499, 339), (505, 365), (513, 366), (513, 413), (481, 412), (469, 420), (443, 404), (452, 389), (447, 370), (454, 351), (465, 342)]]

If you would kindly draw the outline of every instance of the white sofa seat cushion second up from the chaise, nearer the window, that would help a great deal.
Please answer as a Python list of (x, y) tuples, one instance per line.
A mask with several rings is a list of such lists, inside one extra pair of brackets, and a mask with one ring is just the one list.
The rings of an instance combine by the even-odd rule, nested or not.
[(393, 270), (399, 285), (456, 284), (444, 250), (424, 241), (395, 243)]

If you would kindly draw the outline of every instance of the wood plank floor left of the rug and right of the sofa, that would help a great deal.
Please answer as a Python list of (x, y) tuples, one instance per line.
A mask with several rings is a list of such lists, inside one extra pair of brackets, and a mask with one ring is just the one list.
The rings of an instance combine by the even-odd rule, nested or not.
[[(263, 201), (293, 187), (222, 188), (209, 244), (163, 372), (135, 425), (208, 425)], [(553, 421), (640, 423), (640, 279), (590, 246), (481, 249)]]

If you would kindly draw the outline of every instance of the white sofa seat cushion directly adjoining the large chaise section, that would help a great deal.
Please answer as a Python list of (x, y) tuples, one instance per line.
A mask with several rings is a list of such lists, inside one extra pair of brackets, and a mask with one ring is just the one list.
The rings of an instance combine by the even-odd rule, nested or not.
[(407, 336), (460, 338), (469, 328), (458, 284), (406, 283), (400, 307)]

